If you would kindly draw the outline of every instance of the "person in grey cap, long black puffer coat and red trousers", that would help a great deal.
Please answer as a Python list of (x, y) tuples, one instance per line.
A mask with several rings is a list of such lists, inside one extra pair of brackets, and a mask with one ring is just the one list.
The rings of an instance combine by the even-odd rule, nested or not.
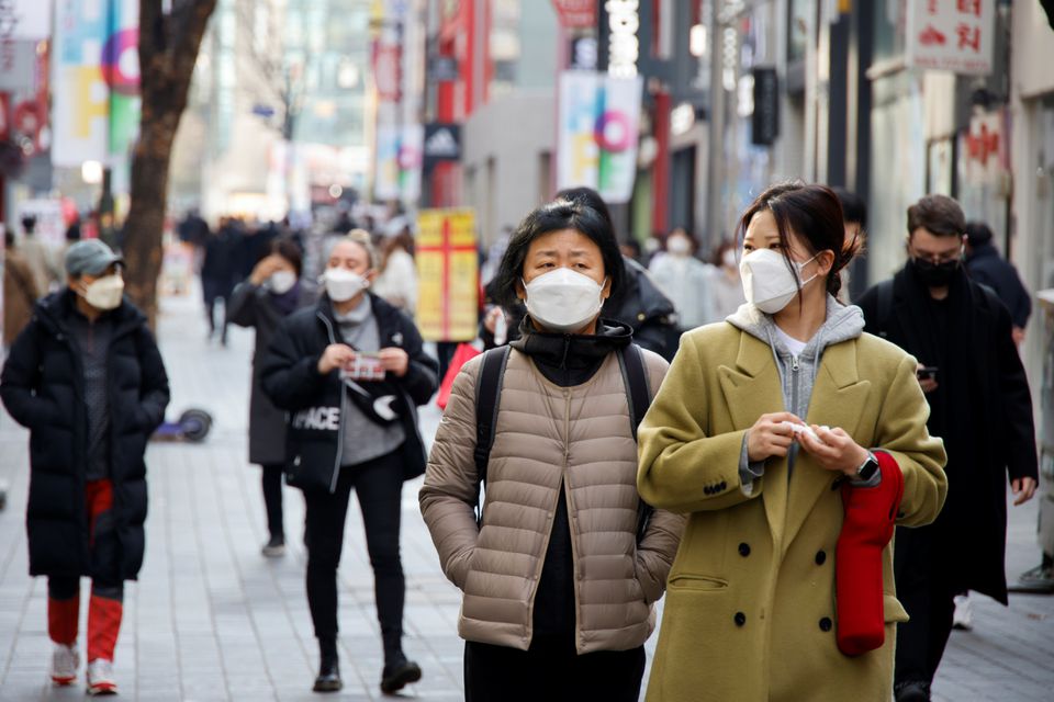
[(122, 259), (98, 239), (66, 252), (68, 290), (36, 305), (0, 375), (30, 429), (30, 575), (48, 576), (52, 680), (77, 677), (80, 577), (89, 576), (88, 691), (113, 693), (124, 580), (143, 564), (146, 442), (168, 376), (146, 318), (123, 298)]

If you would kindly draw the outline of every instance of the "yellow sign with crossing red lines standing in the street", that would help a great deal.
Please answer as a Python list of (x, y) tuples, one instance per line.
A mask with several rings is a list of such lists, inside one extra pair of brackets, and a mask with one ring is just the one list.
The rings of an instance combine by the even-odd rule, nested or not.
[(470, 341), (480, 320), (475, 212), (422, 210), (417, 216), (417, 328), (426, 341)]

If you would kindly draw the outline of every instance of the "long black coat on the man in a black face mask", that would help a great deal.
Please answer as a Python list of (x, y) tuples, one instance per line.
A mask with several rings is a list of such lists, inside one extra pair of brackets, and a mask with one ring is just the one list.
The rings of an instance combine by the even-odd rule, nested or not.
[(865, 330), (938, 366), (927, 426), (944, 440), (949, 484), (933, 524), (897, 530), (897, 577), (902, 568), (923, 571), (954, 591), (976, 590), (1006, 603), (1007, 476), (1038, 474), (1032, 399), (1010, 314), (962, 269), (943, 318), (908, 268), (892, 281), (888, 309), (879, 312), (888, 285), (861, 297)]

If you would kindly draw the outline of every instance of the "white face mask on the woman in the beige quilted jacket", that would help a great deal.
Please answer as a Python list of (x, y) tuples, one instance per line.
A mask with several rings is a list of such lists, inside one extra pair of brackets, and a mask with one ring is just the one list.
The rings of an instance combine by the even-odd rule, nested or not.
[(604, 286), (569, 268), (559, 268), (524, 283), (527, 313), (549, 331), (571, 333), (596, 319), (604, 306)]

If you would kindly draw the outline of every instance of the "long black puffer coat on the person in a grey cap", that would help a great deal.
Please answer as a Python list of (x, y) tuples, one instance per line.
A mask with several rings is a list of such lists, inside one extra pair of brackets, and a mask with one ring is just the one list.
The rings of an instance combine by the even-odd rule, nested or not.
[[(69, 319), (80, 314), (74, 293), (54, 293), (11, 348), (0, 397), (30, 429), (30, 575), (93, 575), (85, 509), (88, 418), (80, 351)], [(120, 544), (116, 575), (135, 579), (143, 564), (146, 520), (146, 442), (165, 418), (168, 375), (146, 318), (127, 299), (96, 324), (112, 324), (106, 372), (110, 401), (110, 479)]]

